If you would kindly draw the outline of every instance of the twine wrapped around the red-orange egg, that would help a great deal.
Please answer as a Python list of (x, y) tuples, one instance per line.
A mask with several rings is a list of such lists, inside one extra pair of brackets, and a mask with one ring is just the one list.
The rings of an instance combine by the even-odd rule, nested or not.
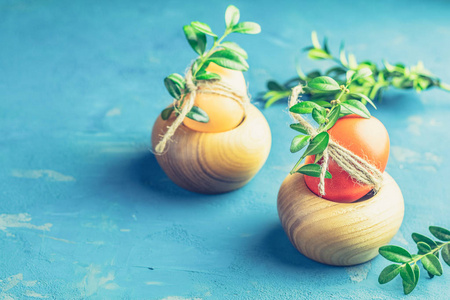
[[(303, 87), (298, 85), (292, 89), (289, 98), (289, 107), (298, 102), (298, 97), (303, 93)], [(306, 128), (308, 133), (314, 138), (318, 131), (308, 121), (302, 118), (300, 114), (290, 113), (302, 126)], [(383, 173), (374, 165), (359, 157), (350, 150), (342, 147), (332, 139), (328, 142), (328, 147), (323, 151), (322, 164), (320, 168), (319, 193), (325, 195), (325, 175), (328, 169), (329, 160), (333, 159), (339, 167), (347, 172), (357, 183), (361, 185), (373, 186), (373, 190), (377, 193), (383, 183)]]

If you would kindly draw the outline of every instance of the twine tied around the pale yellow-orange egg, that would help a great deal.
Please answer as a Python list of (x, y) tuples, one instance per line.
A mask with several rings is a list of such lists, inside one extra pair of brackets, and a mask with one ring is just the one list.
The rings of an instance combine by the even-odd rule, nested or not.
[(170, 126), (167, 126), (167, 131), (161, 136), (161, 140), (155, 147), (155, 154), (161, 155), (166, 149), (167, 143), (170, 138), (175, 134), (177, 128), (181, 125), (186, 115), (191, 111), (194, 106), (195, 97), (197, 94), (214, 94), (219, 96), (225, 96), (238, 102), (244, 109), (244, 116), (246, 114), (246, 107), (249, 103), (249, 96), (246, 94), (237, 93), (232, 87), (223, 83), (221, 80), (196, 80), (194, 82), (192, 78), (192, 65), (186, 72), (184, 77), (186, 82), (186, 90), (184, 92), (185, 101), (181, 110), (176, 109), (176, 105), (183, 99), (175, 100), (174, 107), (178, 113), (177, 118)]

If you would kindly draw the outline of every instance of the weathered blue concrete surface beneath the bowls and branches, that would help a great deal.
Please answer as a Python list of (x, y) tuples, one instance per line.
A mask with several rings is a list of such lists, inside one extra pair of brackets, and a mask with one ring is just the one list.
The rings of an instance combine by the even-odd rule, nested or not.
[[(244, 188), (206, 196), (175, 186), (149, 152), (170, 97), (162, 79), (194, 58), (181, 27), (223, 29), (226, 1), (0, 1), (0, 298), (400, 299), (388, 263), (330, 267), (299, 254), (276, 211), (295, 163), (283, 104), (263, 113), (273, 147)], [(295, 74), (311, 30), (357, 58), (425, 66), (450, 82), (448, 1), (234, 1), (258, 36), (250, 92)], [(326, 65), (323, 65), (324, 68)], [(373, 112), (387, 127), (387, 171), (413, 231), (450, 227), (450, 94), (391, 91)], [(448, 299), (450, 268), (422, 275), (409, 299)]]

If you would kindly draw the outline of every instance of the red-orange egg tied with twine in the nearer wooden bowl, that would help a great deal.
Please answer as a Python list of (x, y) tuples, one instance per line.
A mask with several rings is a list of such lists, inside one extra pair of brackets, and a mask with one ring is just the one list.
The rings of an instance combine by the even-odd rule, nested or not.
[[(381, 172), (389, 158), (389, 135), (384, 125), (376, 118), (364, 119), (357, 115), (340, 118), (328, 130), (330, 139), (354, 154), (373, 164)], [(308, 156), (305, 164), (314, 163), (315, 156)], [(319, 160), (319, 164), (321, 160)], [(328, 171), (331, 179), (325, 179), (323, 198), (336, 202), (353, 202), (366, 195), (372, 187), (360, 185), (332, 159)], [(305, 175), (308, 188), (319, 195), (319, 178)]]

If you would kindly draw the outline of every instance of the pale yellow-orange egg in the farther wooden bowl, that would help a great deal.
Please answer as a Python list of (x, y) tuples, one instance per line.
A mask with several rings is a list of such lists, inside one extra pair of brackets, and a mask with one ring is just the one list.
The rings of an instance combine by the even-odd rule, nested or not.
[[(230, 70), (210, 63), (207, 71), (219, 74), (221, 82), (233, 88), (240, 95), (247, 95), (247, 86), (241, 71)], [(185, 118), (183, 124), (199, 132), (224, 132), (241, 124), (245, 117), (243, 106), (226, 96), (197, 93), (195, 106), (203, 109), (209, 116), (208, 123)]]

